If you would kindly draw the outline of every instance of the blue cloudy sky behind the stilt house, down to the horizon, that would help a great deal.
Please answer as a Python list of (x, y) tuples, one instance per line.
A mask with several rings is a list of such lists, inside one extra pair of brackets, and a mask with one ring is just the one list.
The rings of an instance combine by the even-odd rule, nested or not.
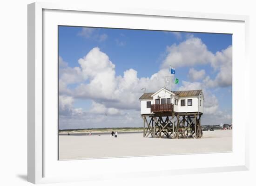
[(139, 97), (203, 90), (202, 125), (232, 122), (232, 35), (59, 26), (59, 128), (141, 127)]

